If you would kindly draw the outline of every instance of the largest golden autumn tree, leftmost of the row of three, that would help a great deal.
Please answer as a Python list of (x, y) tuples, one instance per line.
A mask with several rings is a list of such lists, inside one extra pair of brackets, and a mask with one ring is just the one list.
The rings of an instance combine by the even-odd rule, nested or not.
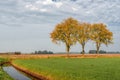
[(76, 43), (75, 34), (77, 26), (77, 20), (68, 18), (60, 24), (57, 24), (53, 32), (50, 34), (53, 42), (65, 43), (67, 56), (69, 56), (70, 47)]

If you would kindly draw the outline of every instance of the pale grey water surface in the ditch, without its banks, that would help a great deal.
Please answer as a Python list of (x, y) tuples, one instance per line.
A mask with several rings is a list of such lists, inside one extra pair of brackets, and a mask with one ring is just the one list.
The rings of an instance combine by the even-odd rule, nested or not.
[(20, 73), (12, 66), (3, 67), (3, 70), (7, 72), (15, 80), (31, 80), (29, 77)]

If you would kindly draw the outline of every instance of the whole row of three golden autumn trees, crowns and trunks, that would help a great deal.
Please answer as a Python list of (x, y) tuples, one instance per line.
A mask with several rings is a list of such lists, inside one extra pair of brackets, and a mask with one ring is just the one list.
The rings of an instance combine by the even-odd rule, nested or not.
[(102, 44), (106, 46), (113, 43), (113, 33), (103, 23), (79, 22), (76, 19), (68, 18), (56, 25), (50, 34), (54, 43), (63, 42), (66, 45), (67, 56), (71, 46), (77, 42), (82, 47), (82, 54), (85, 53), (85, 45), (88, 41), (96, 44), (96, 53), (99, 53)]

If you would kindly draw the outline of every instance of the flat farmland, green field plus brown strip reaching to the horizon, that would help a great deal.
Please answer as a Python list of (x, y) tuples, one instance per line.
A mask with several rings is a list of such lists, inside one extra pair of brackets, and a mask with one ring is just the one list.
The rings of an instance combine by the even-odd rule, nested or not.
[(1, 54), (12, 65), (47, 80), (120, 80), (120, 54)]

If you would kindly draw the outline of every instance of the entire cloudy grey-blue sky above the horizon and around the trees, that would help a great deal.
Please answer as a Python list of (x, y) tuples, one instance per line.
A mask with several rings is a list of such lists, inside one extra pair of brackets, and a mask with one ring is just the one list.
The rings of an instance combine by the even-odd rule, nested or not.
[[(64, 52), (64, 44), (52, 43), (49, 34), (68, 17), (105, 23), (114, 44), (101, 49), (120, 51), (120, 0), (0, 0), (0, 52)], [(89, 42), (85, 49), (95, 49), (95, 44)], [(81, 46), (71, 51), (80, 52)]]

